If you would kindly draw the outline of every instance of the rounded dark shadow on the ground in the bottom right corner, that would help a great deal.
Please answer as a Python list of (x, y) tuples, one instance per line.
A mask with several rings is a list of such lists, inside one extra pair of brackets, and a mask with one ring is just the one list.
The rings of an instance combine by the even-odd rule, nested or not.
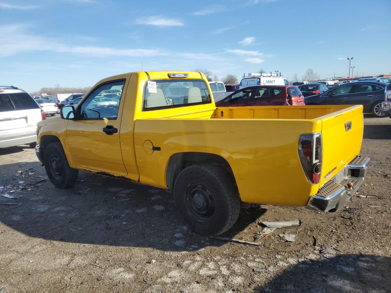
[(254, 292), (389, 292), (391, 258), (346, 254), (291, 266)]

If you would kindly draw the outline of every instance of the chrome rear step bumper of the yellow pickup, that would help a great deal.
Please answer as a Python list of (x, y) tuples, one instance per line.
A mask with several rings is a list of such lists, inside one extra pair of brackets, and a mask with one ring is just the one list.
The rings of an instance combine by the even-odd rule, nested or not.
[(357, 192), (364, 182), (369, 157), (355, 157), (346, 167), (312, 195), (307, 204), (309, 209), (335, 212)]

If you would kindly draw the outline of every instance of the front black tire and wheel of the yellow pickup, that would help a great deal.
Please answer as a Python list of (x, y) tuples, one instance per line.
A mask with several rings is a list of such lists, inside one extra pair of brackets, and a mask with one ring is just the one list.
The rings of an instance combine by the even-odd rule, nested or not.
[(50, 143), (45, 148), (43, 162), (50, 182), (58, 188), (67, 188), (75, 184), (79, 171), (69, 166), (61, 143)]

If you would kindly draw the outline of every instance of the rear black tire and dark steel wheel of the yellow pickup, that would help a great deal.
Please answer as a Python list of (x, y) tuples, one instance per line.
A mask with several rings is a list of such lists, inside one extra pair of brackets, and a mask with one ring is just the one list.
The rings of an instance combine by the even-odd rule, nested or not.
[(216, 236), (230, 229), (240, 210), (235, 179), (215, 165), (194, 164), (179, 173), (175, 205), (192, 230)]

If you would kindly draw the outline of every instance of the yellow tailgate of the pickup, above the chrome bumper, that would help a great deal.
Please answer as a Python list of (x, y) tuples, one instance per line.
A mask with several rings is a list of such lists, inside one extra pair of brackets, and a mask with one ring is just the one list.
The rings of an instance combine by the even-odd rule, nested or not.
[(319, 119), (322, 121), (323, 139), (321, 187), (360, 153), (364, 130), (362, 105), (355, 105)]

